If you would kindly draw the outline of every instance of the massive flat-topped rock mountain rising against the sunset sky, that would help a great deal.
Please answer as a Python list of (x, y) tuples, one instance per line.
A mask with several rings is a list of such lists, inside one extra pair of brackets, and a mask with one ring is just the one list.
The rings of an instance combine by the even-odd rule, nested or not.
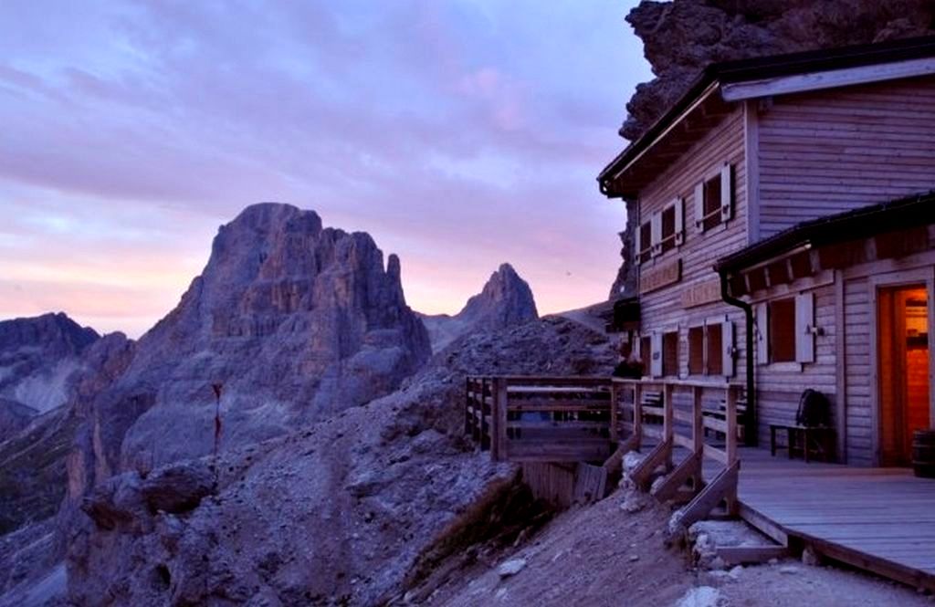
[(207, 267), (84, 407), (69, 502), (121, 470), (146, 473), (214, 443), (282, 434), (395, 390), (430, 354), (424, 326), (373, 239), (265, 203), (223, 225)]

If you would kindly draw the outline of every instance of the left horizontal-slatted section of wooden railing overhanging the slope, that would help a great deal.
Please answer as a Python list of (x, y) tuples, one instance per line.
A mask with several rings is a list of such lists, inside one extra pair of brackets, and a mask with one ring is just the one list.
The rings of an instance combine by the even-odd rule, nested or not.
[(612, 390), (608, 377), (468, 377), (465, 432), (495, 460), (603, 462)]

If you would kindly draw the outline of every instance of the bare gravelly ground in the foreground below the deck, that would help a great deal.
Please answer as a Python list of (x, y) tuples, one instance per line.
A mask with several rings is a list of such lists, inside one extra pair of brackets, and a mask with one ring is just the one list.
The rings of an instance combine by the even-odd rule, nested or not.
[[(667, 548), (669, 509), (651, 504), (627, 513), (618, 491), (592, 507), (557, 516), (511, 550), (453, 572), (425, 604), (626, 605), (626, 607), (930, 606), (931, 597), (883, 579), (786, 559), (730, 571), (694, 569), (687, 552)], [(497, 569), (516, 560), (520, 571)]]

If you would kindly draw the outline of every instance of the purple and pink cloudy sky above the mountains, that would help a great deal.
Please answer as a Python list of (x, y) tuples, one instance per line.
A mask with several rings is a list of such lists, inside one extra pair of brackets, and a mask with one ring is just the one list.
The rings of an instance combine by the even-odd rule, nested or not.
[(635, 85), (634, 0), (0, 6), (0, 318), (143, 333), (253, 202), (319, 212), (455, 312), (509, 261), (539, 311), (604, 299), (599, 169)]

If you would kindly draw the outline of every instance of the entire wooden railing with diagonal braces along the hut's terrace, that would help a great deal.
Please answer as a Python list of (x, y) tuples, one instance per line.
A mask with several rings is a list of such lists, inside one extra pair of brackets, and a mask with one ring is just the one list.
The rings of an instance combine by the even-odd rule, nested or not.
[[(595, 463), (617, 474), (624, 455), (644, 454), (627, 477), (660, 500), (688, 502), (684, 524), (718, 504), (736, 510), (738, 437), (745, 412), (734, 383), (607, 377), (468, 377), (465, 432), (495, 460)], [(676, 464), (676, 449), (687, 455)], [(683, 452), (679, 452), (680, 455)], [(705, 458), (723, 466), (710, 483)], [(660, 477), (661, 482), (654, 482)]]

